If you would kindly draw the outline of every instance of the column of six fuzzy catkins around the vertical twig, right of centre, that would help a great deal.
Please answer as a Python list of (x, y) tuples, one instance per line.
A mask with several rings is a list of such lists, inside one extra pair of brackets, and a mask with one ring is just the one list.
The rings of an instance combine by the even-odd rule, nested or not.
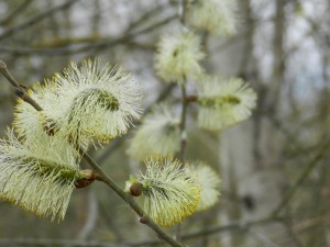
[[(184, 146), (190, 139), (186, 133), (195, 127), (186, 130), (186, 104), (197, 104), (193, 108), (193, 111), (197, 109), (197, 127), (212, 132), (246, 120), (256, 104), (256, 93), (248, 82), (237, 77), (209, 75), (202, 66), (207, 49), (206, 35), (201, 34), (233, 35), (235, 1), (188, 0), (184, 3), (184, 25), (177, 33), (161, 36), (154, 59), (160, 79), (177, 83), (182, 89), (183, 110), (178, 111), (180, 108), (175, 101), (155, 105), (142, 120), (128, 148), (128, 154), (144, 160), (146, 167), (144, 173), (131, 177), (127, 190), (133, 195), (142, 194), (144, 209), (163, 226), (209, 209), (220, 195), (220, 178), (210, 166), (204, 161), (179, 162), (174, 158), (183, 157)], [(195, 83), (194, 96), (186, 94), (190, 83)]]

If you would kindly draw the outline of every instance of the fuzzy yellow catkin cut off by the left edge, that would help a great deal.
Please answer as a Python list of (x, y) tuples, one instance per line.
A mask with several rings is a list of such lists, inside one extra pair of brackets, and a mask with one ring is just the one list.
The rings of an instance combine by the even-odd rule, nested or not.
[(79, 178), (76, 157), (57, 149), (63, 145), (21, 143), (9, 131), (8, 139), (0, 139), (0, 198), (35, 215), (63, 220)]

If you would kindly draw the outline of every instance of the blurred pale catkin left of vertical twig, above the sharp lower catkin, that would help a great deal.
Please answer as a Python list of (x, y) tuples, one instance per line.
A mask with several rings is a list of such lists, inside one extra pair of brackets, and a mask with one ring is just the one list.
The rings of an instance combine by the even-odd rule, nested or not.
[(173, 157), (179, 150), (179, 115), (169, 103), (155, 105), (138, 127), (128, 154), (143, 160), (150, 156)]

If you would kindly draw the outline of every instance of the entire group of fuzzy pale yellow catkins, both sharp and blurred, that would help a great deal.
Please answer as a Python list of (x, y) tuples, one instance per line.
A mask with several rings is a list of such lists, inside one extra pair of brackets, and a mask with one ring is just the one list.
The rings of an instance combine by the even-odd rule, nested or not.
[[(198, 127), (222, 131), (251, 115), (256, 94), (240, 78), (208, 75), (201, 64), (206, 49), (199, 33), (234, 34), (235, 3), (194, 0), (187, 1), (186, 8), (182, 32), (161, 37), (156, 74), (179, 86), (184, 106), (197, 104), (193, 110), (197, 110)], [(190, 82), (196, 86), (196, 96), (189, 98), (186, 89)], [(89, 173), (79, 168), (81, 150), (127, 134), (141, 116), (141, 88), (120, 67), (85, 60), (34, 83), (28, 94), (43, 110), (18, 101), (13, 130), (0, 141), (0, 198), (36, 215), (63, 220), (73, 190)], [(161, 226), (172, 226), (213, 206), (220, 195), (220, 178), (210, 166), (174, 158), (189, 139), (185, 114), (186, 109), (178, 111), (169, 101), (155, 105), (128, 148), (145, 167), (144, 172), (131, 176), (125, 190), (143, 197), (144, 211)]]

